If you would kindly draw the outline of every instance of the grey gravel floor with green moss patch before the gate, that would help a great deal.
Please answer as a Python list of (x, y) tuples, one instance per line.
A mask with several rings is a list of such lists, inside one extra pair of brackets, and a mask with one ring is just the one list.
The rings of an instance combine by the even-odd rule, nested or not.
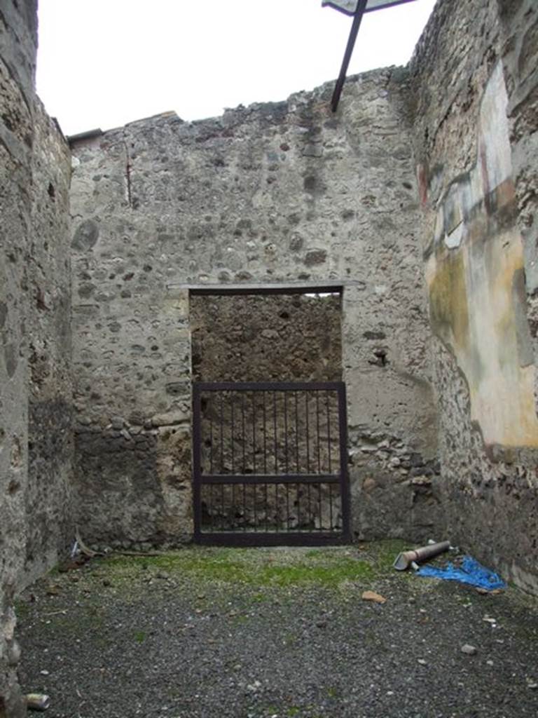
[(400, 549), (189, 548), (54, 572), (19, 602), (23, 689), (51, 696), (49, 718), (536, 718), (538, 602), (398, 574)]

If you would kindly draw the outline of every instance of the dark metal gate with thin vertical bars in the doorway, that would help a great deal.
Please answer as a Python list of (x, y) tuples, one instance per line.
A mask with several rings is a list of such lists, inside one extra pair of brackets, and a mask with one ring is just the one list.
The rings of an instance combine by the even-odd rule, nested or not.
[(344, 383), (194, 383), (193, 404), (196, 541), (349, 541)]

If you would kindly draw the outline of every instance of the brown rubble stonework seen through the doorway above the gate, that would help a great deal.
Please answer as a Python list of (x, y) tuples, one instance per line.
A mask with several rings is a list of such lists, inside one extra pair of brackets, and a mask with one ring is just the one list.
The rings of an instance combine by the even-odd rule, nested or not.
[(194, 381), (341, 381), (339, 294), (191, 297)]

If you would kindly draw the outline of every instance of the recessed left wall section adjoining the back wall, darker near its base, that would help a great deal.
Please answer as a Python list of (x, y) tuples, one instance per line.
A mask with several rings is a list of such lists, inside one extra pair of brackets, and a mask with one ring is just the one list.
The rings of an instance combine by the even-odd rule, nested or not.
[(27, 271), (29, 314), (27, 584), (67, 555), (72, 521), (72, 383), (69, 146), (33, 106), (32, 233)]

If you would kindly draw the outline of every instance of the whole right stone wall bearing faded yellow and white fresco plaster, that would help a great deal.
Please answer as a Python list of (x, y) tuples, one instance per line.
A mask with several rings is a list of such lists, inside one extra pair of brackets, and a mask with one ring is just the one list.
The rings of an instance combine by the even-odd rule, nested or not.
[(436, 6), (410, 65), (415, 154), (448, 536), (537, 591), (534, 259), (522, 243), (535, 231), (536, 95), (522, 84), (536, 8), (500, 5)]

